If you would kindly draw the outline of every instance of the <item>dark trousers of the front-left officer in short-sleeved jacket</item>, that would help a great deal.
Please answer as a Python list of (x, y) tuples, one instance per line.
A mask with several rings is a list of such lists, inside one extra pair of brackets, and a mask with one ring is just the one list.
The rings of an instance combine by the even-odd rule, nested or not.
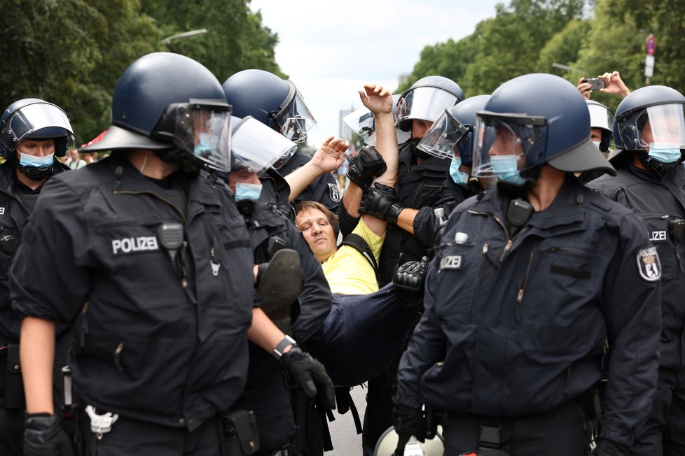
[(81, 414), (85, 456), (218, 456), (219, 420), (212, 418), (193, 432), (185, 427), (167, 427), (120, 416), (111, 432), (97, 440), (90, 418)]

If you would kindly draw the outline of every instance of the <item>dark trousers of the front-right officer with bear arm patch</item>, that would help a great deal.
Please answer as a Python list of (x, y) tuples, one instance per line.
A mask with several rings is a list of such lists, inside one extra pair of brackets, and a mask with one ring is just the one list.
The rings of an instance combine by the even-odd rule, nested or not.
[(510, 456), (586, 456), (590, 454), (590, 438), (583, 420), (583, 410), (576, 402), (548, 413), (515, 418), (450, 413), (443, 429), (445, 455), (476, 452), (483, 423), (490, 429), (501, 426), (499, 449)]

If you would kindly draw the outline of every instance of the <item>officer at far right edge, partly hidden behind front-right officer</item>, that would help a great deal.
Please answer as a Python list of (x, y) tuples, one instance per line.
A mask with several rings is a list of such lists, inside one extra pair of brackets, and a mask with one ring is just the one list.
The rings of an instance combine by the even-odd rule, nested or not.
[[(685, 97), (670, 87), (635, 90), (616, 110), (611, 162), (618, 176), (588, 186), (644, 219), (661, 267), (663, 327), (657, 393), (633, 451), (640, 455), (685, 453)], [(662, 448), (663, 441), (663, 448)]]

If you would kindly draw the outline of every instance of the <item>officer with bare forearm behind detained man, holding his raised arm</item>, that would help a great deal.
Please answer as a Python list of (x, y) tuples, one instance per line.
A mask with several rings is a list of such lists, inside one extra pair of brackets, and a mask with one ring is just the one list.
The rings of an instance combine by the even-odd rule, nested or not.
[[(464, 92), (454, 81), (428, 76), (414, 83), (397, 102), (397, 123), (403, 131), (411, 131), (412, 138), (399, 145), (396, 197), (375, 187), (366, 190), (364, 196), (364, 213), (388, 222), (378, 262), (381, 286), (392, 280), (400, 253), (405, 262), (420, 261), (429, 255), (436, 223), (434, 207), (443, 207), (452, 200), (452, 194), (445, 186), (450, 164), (447, 159), (429, 155), (417, 145), (445, 108), (451, 108), (463, 99)], [(388, 115), (387, 110), (385, 114)], [(380, 135), (380, 130), (377, 134)], [(389, 139), (396, 141), (394, 132)], [(380, 136), (376, 148), (382, 150), (384, 146), (378, 141)], [(384, 156), (391, 154), (384, 151)], [(348, 204), (347, 199), (343, 203), (338, 215), (340, 231), (347, 236), (357, 226), (358, 218), (354, 206)], [(375, 442), (392, 425), (392, 383), (394, 367), (368, 383), (363, 436), (365, 455), (373, 453)]]

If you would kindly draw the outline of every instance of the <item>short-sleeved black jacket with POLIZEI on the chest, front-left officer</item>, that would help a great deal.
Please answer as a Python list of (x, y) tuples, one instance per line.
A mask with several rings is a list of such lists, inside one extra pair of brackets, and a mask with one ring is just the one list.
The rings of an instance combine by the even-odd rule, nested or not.
[[(228, 187), (205, 173), (179, 180), (187, 211), (120, 157), (50, 179), (11, 269), (11, 299), (22, 315), (78, 317), (69, 365), (85, 404), (195, 429), (242, 391), (254, 280)], [(162, 223), (184, 228), (179, 262)]]

